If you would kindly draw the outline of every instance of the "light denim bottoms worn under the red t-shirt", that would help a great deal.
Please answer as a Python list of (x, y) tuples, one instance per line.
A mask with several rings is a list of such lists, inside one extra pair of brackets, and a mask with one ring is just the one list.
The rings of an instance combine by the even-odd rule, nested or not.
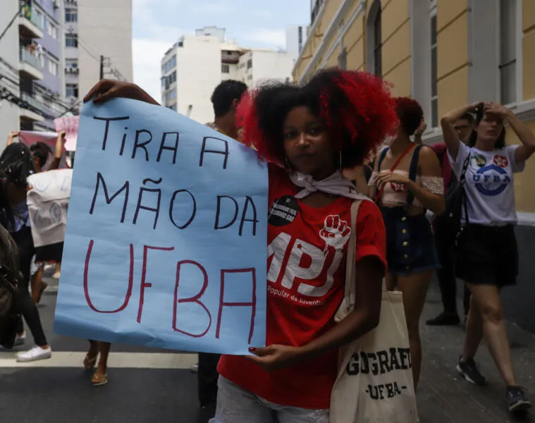
[(328, 410), (270, 403), (219, 376), (216, 417), (209, 423), (328, 423)]

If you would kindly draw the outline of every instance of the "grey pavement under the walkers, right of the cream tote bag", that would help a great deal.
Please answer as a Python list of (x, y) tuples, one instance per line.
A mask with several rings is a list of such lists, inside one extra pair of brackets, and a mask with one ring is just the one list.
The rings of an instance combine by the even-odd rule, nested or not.
[[(462, 310), (461, 304), (458, 309)], [(464, 329), (462, 326), (433, 327), (425, 324), (441, 310), (440, 293), (433, 285), (421, 323), (424, 359), (417, 393), (420, 422), (534, 422), (535, 411), (523, 419), (513, 419), (508, 414), (505, 385), (484, 343), (476, 355), (476, 362), (488, 385), (468, 384), (457, 374), (455, 367), (462, 351)], [(527, 395), (535, 403), (535, 335), (508, 323), (508, 336), (517, 382), (526, 388)]]

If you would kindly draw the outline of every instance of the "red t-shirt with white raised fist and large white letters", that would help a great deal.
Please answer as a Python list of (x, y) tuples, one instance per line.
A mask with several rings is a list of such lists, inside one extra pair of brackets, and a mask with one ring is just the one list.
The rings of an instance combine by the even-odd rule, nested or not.
[[(344, 295), (352, 200), (340, 197), (316, 209), (296, 200), (296, 192), (288, 174), (270, 166), (266, 345), (297, 347), (319, 338), (335, 325), (333, 317)], [(362, 202), (357, 218), (355, 260), (366, 256), (378, 257), (386, 269), (385, 227), (371, 201)], [(271, 403), (327, 409), (338, 350), (275, 372), (245, 357), (223, 355), (218, 370)]]

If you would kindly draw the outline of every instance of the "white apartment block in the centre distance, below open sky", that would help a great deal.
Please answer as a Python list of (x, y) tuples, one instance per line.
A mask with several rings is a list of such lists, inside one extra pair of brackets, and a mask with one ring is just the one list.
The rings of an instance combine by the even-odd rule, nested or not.
[(180, 38), (161, 60), (162, 104), (208, 123), (214, 120), (211, 94), (221, 81), (254, 86), (265, 79), (290, 80), (292, 68), (284, 51), (243, 49), (226, 39), (224, 28), (204, 27)]

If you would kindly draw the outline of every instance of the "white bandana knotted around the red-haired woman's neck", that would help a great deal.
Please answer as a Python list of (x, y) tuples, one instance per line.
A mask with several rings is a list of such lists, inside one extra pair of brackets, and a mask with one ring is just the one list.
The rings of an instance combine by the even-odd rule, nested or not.
[(305, 175), (305, 173), (291, 172), (290, 180), (292, 180), (298, 187), (305, 188), (304, 190), (297, 192), (295, 195), (295, 198), (298, 199), (305, 198), (307, 195), (316, 191), (325, 192), (326, 194), (340, 195), (340, 197), (348, 197), (354, 200), (368, 199), (368, 197), (365, 197), (358, 192), (355, 185), (353, 185), (350, 180), (344, 178), (339, 171), (336, 171), (324, 180), (314, 180), (312, 176)]

